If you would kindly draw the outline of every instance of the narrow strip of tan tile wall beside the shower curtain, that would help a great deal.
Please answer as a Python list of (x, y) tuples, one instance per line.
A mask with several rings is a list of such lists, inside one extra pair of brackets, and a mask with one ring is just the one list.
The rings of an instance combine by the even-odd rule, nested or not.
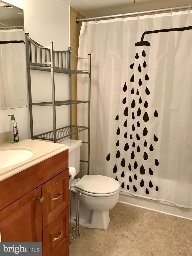
[[(78, 56), (78, 47), (79, 47), (79, 34), (82, 22), (76, 23), (76, 17), (79, 19), (85, 18), (80, 12), (76, 11), (74, 8), (70, 7), (70, 47), (75, 55)], [(71, 56), (71, 68), (77, 69), (77, 59), (72, 55)], [(72, 100), (76, 100), (77, 92), (77, 76), (73, 75), (72, 77)], [(77, 125), (77, 110), (76, 104), (72, 105), (72, 125)], [(78, 140), (78, 134), (74, 134), (72, 139)]]

